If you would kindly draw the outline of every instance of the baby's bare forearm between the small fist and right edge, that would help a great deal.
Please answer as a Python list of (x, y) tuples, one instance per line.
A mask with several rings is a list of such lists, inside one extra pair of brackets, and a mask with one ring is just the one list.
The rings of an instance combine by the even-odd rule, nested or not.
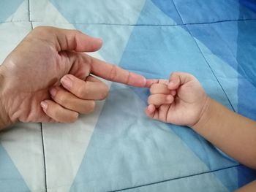
[(256, 122), (213, 99), (192, 128), (241, 164), (256, 169)]

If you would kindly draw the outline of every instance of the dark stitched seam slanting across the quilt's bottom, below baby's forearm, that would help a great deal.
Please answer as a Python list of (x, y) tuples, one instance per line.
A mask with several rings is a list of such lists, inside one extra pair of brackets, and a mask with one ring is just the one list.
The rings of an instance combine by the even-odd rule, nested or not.
[[(197, 173), (197, 174), (191, 174), (191, 175), (184, 176), (184, 177), (176, 177), (176, 178), (173, 178), (173, 179), (170, 179), (170, 180), (162, 180), (162, 181), (155, 182), (155, 183), (148, 183), (148, 184), (145, 184), (145, 185), (138, 185), (138, 186), (131, 187), (131, 188), (118, 189), (116, 191), (125, 191), (125, 190), (129, 190), (129, 189), (141, 188), (141, 187), (145, 187), (145, 186), (149, 186), (149, 185), (156, 185), (156, 184), (159, 184), (159, 183), (165, 183), (165, 182), (169, 182), (169, 181), (173, 181), (173, 180), (184, 179), (184, 178), (187, 178), (187, 177), (195, 177), (195, 176), (201, 175), (201, 174), (209, 174), (209, 173), (219, 172), (219, 171), (222, 171), (222, 170), (225, 170), (225, 169), (232, 169), (232, 168), (235, 168), (235, 167), (238, 167), (238, 166), (241, 166), (241, 164), (236, 165), (236, 166), (229, 166), (229, 167), (225, 167), (225, 168), (221, 168), (221, 169), (215, 169), (215, 170), (209, 171), (209, 172), (202, 172), (202, 173)], [(116, 191), (108, 191), (108, 192), (116, 192)]]

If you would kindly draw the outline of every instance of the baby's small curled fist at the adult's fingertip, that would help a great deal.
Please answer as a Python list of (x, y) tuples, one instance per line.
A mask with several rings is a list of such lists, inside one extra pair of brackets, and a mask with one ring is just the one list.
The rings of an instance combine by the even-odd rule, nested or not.
[(194, 126), (206, 108), (208, 96), (200, 82), (183, 72), (174, 72), (170, 80), (151, 85), (146, 115), (166, 123)]

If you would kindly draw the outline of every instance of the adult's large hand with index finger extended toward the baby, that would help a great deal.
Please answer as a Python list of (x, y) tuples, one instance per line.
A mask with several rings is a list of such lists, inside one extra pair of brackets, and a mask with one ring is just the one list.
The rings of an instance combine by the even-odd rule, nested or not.
[[(102, 40), (80, 31), (38, 27), (0, 67), (0, 128), (21, 122), (73, 122), (94, 110), (108, 86), (91, 76), (144, 87), (145, 77), (82, 52), (99, 50)], [(2, 125), (1, 125), (2, 124)]]

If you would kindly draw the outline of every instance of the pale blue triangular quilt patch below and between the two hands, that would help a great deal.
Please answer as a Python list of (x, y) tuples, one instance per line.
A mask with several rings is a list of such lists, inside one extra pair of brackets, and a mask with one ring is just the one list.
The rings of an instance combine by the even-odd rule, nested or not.
[(147, 118), (145, 107), (129, 88), (112, 85), (70, 191), (115, 191), (209, 171), (165, 123)]

